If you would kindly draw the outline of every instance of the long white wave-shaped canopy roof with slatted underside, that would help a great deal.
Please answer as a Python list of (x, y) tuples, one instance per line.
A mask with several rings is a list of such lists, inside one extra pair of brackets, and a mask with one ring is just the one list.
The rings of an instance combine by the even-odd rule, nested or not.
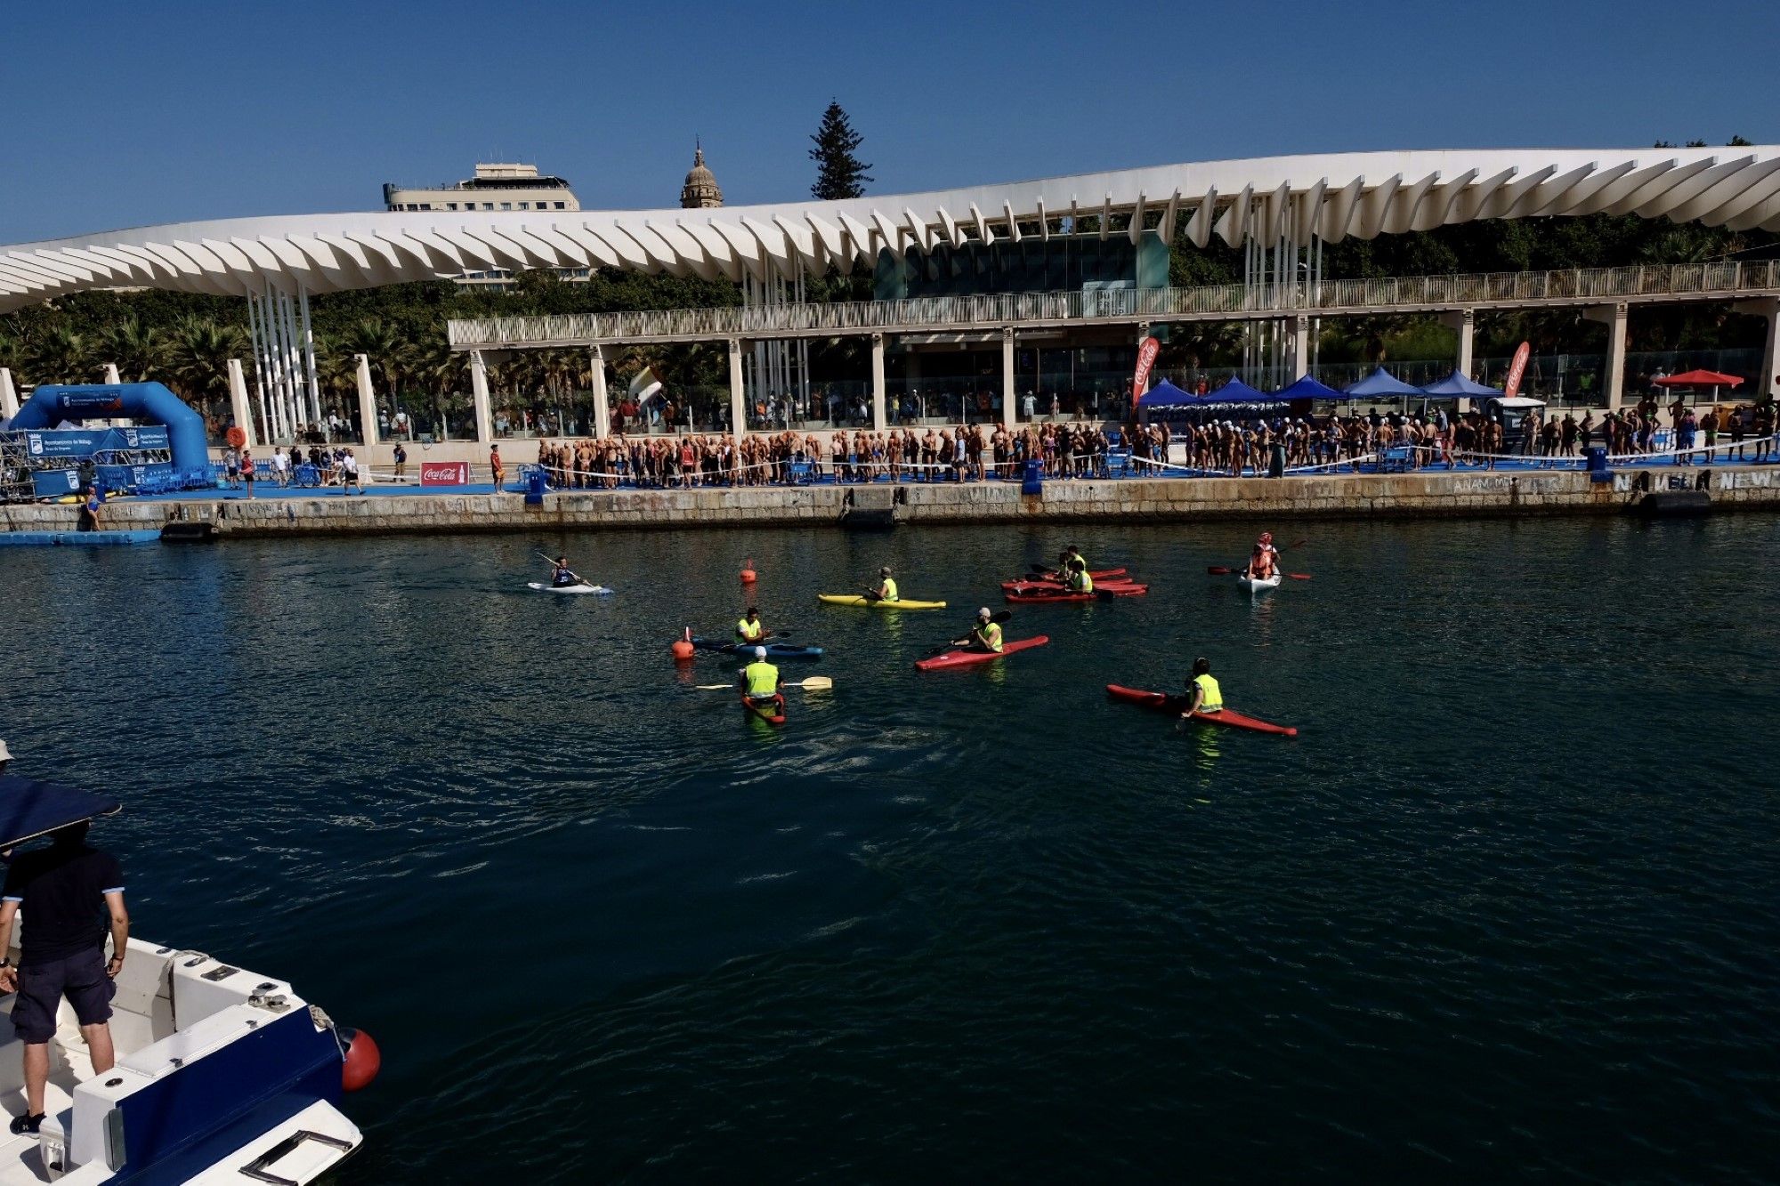
[[(1780, 230), (1780, 146), (1392, 151), (1084, 173), (712, 210), (422, 210), (173, 223), (0, 248), (0, 312), (84, 288), (340, 292), (466, 271), (618, 267), (740, 280), (849, 271), (881, 248), (1020, 242), (1096, 217), (1137, 237), (1339, 242), (1474, 219), (1636, 214)], [(1114, 217), (1118, 215), (1118, 217)], [(1118, 230), (1107, 230), (1118, 224)]]

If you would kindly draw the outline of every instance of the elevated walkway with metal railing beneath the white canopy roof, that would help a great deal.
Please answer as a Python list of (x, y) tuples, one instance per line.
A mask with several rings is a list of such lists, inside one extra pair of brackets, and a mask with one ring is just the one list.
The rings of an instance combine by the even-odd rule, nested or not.
[(1780, 294), (1780, 260), (1579, 267), (1554, 272), (1385, 276), (1262, 288), (1116, 288), (1009, 292), (742, 308), (669, 308), (627, 313), (452, 321), (452, 349), (694, 342), (712, 338), (943, 333), (1004, 326), (1143, 321), (1253, 321), (1292, 315), (1460, 310), (1479, 306), (1682, 301)]

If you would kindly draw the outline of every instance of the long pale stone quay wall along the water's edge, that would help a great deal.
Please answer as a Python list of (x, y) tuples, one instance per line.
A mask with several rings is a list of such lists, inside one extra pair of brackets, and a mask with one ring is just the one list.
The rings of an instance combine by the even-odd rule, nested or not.
[[(1196, 477), (1047, 481), (1024, 495), (1018, 483), (904, 483), (892, 486), (748, 486), (735, 490), (571, 490), (527, 506), (518, 493), (267, 497), (253, 502), (194, 497), (117, 500), (109, 529), (162, 527), (173, 520), (215, 524), (224, 538), (399, 534), (477, 531), (639, 531), (675, 527), (808, 527), (888, 524), (1196, 522), (1219, 518), (1438, 518), (1620, 515), (1643, 497), (1639, 479), (1663, 490), (1680, 474), (1695, 486), (1709, 474), (1714, 509), (1780, 509), (1780, 468), (1657, 467), (1620, 470), (1609, 483), (1588, 474), (1445, 472), (1317, 474), (1283, 479)], [(4, 506), (0, 531), (71, 531), (75, 506)]]

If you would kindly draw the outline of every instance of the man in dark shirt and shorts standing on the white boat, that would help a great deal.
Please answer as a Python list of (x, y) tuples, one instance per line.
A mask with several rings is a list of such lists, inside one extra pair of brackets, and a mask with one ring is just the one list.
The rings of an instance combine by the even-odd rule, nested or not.
[[(123, 871), (109, 853), (91, 848), (80, 821), (50, 833), (50, 846), (12, 858), (0, 890), (0, 956), (12, 946), (20, 908), (30, 915), (18, 967), (0, 958), (0, 992), (16, 992), (12, 1029), (23, 1044), (25, 1111), (12, 1133), (36, 1133), (44, 1118), (50, 1081), (50, 1038), (66, 999), (93, 1058), (93, 1074), (116, 1063), (110, 1003), (117, 992), (130, 942), (123, 905)], [(105, 958), (110, 931), (112, 956)]]

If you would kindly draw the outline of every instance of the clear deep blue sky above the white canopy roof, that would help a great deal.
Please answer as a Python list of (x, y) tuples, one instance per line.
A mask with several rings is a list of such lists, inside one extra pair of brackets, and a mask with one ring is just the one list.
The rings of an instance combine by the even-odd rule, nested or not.
[(587, 208), (1374, 148), (1780, 141), (1780, 2), (5, 4), (0, 242), (379, 208), (536, 162)]

